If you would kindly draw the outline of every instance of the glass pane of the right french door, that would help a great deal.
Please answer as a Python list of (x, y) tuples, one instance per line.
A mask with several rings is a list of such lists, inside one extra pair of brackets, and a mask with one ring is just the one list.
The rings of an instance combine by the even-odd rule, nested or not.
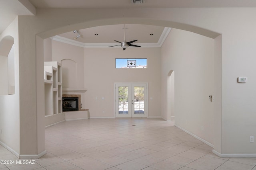
[(134, 114), (144, 114), (144, 87), (134, 87)]

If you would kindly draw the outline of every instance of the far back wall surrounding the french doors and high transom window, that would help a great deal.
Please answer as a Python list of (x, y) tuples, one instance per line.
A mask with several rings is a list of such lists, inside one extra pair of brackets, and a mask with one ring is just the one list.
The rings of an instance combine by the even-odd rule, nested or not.
[[(84, 49), (84, 82), (88, 89), (85, 94), (85, 107), (89, 109), (90, 117), (115, 116), (115, 82), (148, 82), (148, 116), (161, 116), (160, 52), (160, 48), (129, 47), (125, 51), (122, 48)], [(115, 68), (116, 58), (147, 58), (148, 67)], [(95, 100), (96, 97), (98, 100)]]

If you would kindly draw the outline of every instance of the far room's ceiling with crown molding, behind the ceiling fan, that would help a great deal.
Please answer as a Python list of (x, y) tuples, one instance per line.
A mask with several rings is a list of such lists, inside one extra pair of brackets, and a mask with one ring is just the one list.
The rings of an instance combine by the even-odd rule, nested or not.
[[(120, 43), (114, 40), (124, 42), (125, 31), (126, 42), (138, 40), (132, 44), (142, 47), (161, 47), (170, 32), (170, 28), (154, 25), (125, 24), (124, 29), (124, 24), (119, 24), (91, 27), (76, 31), (75, 33), (73, 31), (62, 33), (53, 37), (53, 39), (84, 48), (108, 47), (120, 45)], [(79, 38), (77, 38), (78, 35), (80, 35)]]

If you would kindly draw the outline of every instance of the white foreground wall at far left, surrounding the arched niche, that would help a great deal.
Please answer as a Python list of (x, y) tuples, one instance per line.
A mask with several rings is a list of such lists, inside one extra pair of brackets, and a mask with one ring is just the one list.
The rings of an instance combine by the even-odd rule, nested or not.
[[(11, 152), (20, 153), (20, 103), (19, 103), (19, 49), (18, 49), (18, 18), (4, 30), (0, 35), (0, 42), (6, 36), (11, 36), (14, 42), (10, 43), (11, 49), (14, 46), (14, 74), (15, 92), (14, 95), (0, 96), (0, 144), (7, 147)], [(10, 51), (10, 50), (9, 50)], [(8, 53), (9, 53), (8, 51)], [(2, 51), (1, 51), (2, 52)], [(7, 53), (7, 55), (8, 55)], [(5, 56), (7, 56), (5, 55)], [(6, 57), (7, 59), (7, 57)], [(6, 79), (8, 82), (8, 79)], [(8, 92), (8, 91), (7, 91)]]

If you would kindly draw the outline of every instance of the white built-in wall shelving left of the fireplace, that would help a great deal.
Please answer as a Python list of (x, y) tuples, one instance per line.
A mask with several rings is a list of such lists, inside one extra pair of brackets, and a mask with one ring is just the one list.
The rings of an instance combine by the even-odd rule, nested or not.
[(62, 66), (56, 61), (44, 62), (45, 116), (62, 113)]

